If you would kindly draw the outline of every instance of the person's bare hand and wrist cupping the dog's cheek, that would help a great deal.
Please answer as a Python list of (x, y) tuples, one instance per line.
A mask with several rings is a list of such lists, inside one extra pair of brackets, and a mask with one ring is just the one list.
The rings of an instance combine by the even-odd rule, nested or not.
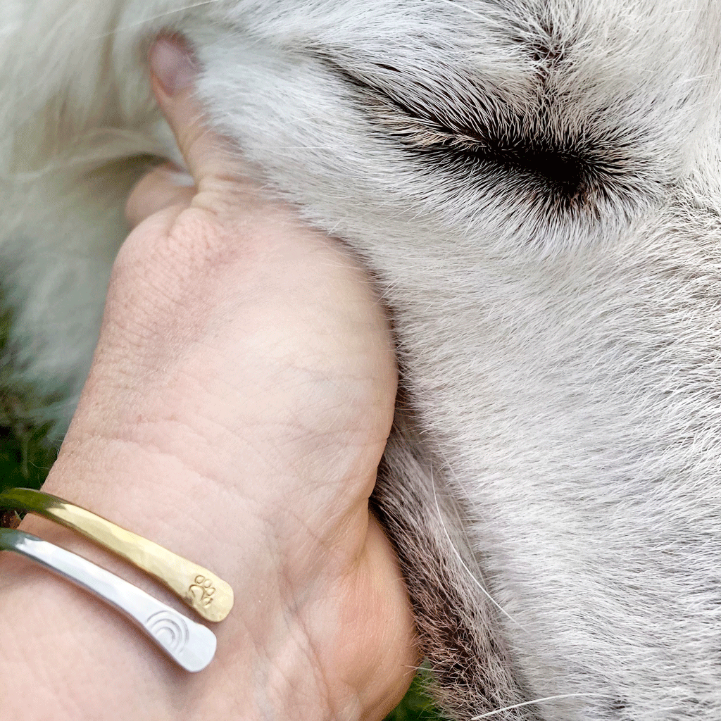
[[(368, 514), (397, 382), (383, 306), (344, 247), (265, 200), (203, 128), (182, 46), (161, 40), (151, 58), (194, 185), (162, 167), (128, 200), (134, 229), (45, 490), (211, 567), (235, 606), (213, 626), (216, 659), (189, 676), (104, 604), (3, 554), (4, 712), (380, 719), (418, 663)], [(178, 606), (68, 531), (22, 528)]]

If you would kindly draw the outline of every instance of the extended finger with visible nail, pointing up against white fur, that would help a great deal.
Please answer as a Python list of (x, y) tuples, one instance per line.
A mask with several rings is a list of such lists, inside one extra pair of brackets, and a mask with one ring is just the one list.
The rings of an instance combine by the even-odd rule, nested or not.
[(151, 83), (195, 185), (207, 177), (227, 177), (233, 159), (226, 141), (205, 123), (195, 100), (197, 66), (187, 42), (164, 35), (150, 50)]

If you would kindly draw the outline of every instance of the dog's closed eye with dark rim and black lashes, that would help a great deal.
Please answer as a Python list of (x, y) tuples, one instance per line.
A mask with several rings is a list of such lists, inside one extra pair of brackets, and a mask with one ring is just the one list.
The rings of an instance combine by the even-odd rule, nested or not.
[(521, 190), (544, 213), (598, 216), (599, 205), (611, 203), (627, 215), (647, 192), (649, 169), (632, 128), (609, 128), (604, 118), (563, 128), (553, 99), (524, 115), (474, 92), (470, 80), (459, 97), (412, 85), (398, 71), (401, 82), (379, 84), (330, 64), (360, 94), (381, 137), (443, 172)]

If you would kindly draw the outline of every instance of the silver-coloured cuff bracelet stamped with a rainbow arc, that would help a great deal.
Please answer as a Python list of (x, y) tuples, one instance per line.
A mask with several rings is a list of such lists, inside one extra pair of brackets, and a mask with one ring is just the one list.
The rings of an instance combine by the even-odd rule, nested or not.
[(202, 671), (216, 653), (213, 632), (94, 563), (23, 531), (0, 528), (0, 549), (14, 551), (115, 606), (186, 671)]

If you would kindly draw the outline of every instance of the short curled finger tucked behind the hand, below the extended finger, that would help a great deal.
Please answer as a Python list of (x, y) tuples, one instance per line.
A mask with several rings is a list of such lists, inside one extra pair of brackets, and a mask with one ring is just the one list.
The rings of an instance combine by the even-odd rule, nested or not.
[(125, 218), (136, 228), (154, 213), (172, 205), (190, 205), (195, 195), (193, 177), (170, 163), (156, 167), (133, 187), (125, 203)]

